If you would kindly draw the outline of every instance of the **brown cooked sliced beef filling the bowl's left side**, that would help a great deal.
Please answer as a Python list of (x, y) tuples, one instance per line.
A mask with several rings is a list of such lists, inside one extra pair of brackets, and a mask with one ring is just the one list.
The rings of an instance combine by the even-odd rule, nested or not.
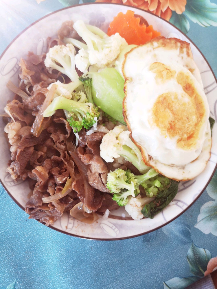
[[(63, 23), (58, 38), (48, 39), (47, 49), (62, 44), (63, 37), (74, 34), (72, 23)], [(38, 136), (32, 133), (47, 87), (61, 80), (59, 72), (47, 70), (45, 55), (29, 52), (26, 59), (21, 59), (19, 89), (24, 92), (24, 98), (15, 95), (6, 105), (9, 116), (5, 117), (5, 132), (11, 152), (7, 172), (15, 181), (28, 179), (32, 189), (25, 211), (30, 218), (50, 225), (78, 203), (82, 203), (83, 210), (89, 214), (114, 210), (118, 205), (105, 185), (109, 168), (100, 157), (99, 147), (104, 133), (87, 136), (82, 129), (75, 147), (76, 137), (62, 110), (43, 119)], [(67, 180), (70, 182), (65, 188)], [(43, 198), (61, 196), (63, 192), (63, 197), (43, 202)]]

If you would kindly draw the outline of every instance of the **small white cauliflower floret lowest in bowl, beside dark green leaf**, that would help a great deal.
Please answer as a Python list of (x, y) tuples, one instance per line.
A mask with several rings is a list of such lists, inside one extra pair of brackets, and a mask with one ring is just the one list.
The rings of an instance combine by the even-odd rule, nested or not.
[(139, 194), (137, 197), (130, 197), (124, 208), (134, 220), (139, 220), (144, 217), (141, 213), (144, 205), (150, 203), (154, 199), (155, 198), (149, 197), (141, 198), (141, 195)]

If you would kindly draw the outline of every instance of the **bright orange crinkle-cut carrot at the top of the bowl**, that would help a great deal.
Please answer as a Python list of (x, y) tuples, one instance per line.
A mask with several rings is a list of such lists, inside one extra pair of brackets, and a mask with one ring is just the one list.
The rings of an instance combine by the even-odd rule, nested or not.
[(134, 12), (127, 10), (126, 14), (119, 12), (114, 17), (108, 27), (108, 36), (119, 33), (128, 45), (145, 44), (147, 41), (160, 36), (160, 32), (153, 29), (152, 25), (146, 27), (145, 24), (139, 24), (140, 18), (134, 16)]

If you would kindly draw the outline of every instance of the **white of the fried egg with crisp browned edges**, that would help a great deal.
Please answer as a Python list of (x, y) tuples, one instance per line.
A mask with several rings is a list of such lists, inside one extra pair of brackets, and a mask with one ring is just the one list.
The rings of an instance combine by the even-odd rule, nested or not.
[[(136, 47), (126, 55), (123, 65), (126, 80), (124, 117), (132, 139), (141, 148), (146, 164), (172, 179), (192, 179), (203, 171), (210, 157), (212, 142), (208, 121), (209, 105), (190, 46), (186, 42), (183, 45), (181, 40), (177, 40), (176, 45), (173, 38), (172, 45), (168, 48), (165, 42), (162, 45), (161, 40), (162, 38), (159, 43), (155, 40), (151, 44)], [(175, 71), (173, 77), (165, 81), (159, 80), (156, 73), (150, 70), (153, 63), (163, 64)], [(166, 131), (162, 132), (153, 121), (153, 107), (160, 95), (176, 95), (177, 110), (179, 103), (186, 104), (186, 107), (191, 106), (189, 95), (176, 80), (180, 73), (190, 79), (204, 106), (197, 138), (189, 148), (177, 145), (178, 137), (182, 136), (171, 137)], [(183, 118), (187, 117), (189, 122), (196, 119), (194, 110), (190, 113), (185, 111), (183, 114)], [(186, 119), (181, 121), (188, 122)]]

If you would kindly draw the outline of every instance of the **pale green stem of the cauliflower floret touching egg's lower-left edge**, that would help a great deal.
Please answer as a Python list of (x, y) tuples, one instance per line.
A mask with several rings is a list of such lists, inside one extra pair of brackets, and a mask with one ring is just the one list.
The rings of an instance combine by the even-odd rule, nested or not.
[(142, 158), (140, 157), (141, 152), (136, 146), (135, 147), (134, 146), (135, 145), (133, 144), (133, 148), (131, 148), (132, 145), (131, 147), (129, 147), (128, 145), (124, 144), (122, 146), (122, 151), (118, 151), (118, 154), (121, 155), (126, 161), (133, 164), (140, 171), (140, 173), (144, 173), (147, 170), (149, 170), (150, 167), (146, 166), (146, 164), (143, 162)]

